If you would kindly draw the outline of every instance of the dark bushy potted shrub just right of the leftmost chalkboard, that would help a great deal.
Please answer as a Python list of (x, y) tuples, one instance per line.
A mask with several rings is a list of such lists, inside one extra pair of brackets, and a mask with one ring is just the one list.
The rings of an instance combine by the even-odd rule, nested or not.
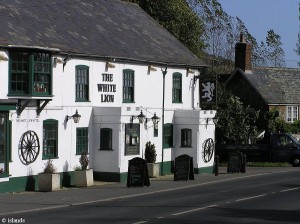
[(149, 177), (158, 177), (160, 174), (160, 166), (156, 162), (156, 150), (155, 145), (151, 142), (146, 143), (145, 147), (145, 159), (147, 161), (148, 175)]

